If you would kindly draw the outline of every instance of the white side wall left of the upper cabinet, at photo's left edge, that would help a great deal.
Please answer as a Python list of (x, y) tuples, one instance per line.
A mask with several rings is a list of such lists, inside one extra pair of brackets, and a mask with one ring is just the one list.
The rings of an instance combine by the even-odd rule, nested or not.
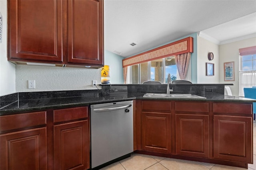
[(15, 65), (7, 61), (7, 1), (0, 0), (3, 30), (0, 43), (0, 96), (15, 93)]

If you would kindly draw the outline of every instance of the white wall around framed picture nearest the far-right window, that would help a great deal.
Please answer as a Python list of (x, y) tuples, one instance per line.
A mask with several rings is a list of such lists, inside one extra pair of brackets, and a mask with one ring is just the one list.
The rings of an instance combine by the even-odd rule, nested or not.
[[(233, 96), (239, 95), (239, 49), (256, 45), (256, 38), (219, 45), (220, 83), (233, 83), (230, 86)], [(224, 81), (224, 63), (234, 61), (235, 81)]]

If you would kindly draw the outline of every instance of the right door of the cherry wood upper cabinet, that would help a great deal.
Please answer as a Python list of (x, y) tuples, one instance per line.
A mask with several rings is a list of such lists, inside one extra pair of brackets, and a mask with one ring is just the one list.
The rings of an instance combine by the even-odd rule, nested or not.
[(68, 63), (103, 66), (103, 0), (68, 1)]

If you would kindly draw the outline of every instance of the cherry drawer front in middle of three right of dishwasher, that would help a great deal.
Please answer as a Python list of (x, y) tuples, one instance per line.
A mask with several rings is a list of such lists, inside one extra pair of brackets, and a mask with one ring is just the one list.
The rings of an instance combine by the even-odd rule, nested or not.
[(209, 112), (209, 103), (175, 102), (175, 111), (181, 112)]

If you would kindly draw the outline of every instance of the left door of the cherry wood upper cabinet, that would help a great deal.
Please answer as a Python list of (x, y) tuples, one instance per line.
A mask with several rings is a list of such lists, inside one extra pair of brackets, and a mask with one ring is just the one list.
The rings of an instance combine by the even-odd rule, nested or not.
[(8, 0), (8, 60), (62, 61), (62, 1)]

